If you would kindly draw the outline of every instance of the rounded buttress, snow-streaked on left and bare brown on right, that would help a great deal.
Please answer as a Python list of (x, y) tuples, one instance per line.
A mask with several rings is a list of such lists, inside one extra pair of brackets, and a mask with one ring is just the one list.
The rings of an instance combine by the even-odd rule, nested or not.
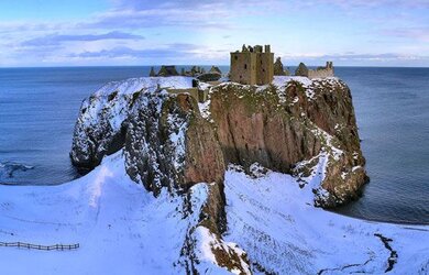
[(197, 183), (222, 184), (224, 161), (215, 132), (187, 94), (142, 95), (125, 121), (127, 170), (158, 194)]

